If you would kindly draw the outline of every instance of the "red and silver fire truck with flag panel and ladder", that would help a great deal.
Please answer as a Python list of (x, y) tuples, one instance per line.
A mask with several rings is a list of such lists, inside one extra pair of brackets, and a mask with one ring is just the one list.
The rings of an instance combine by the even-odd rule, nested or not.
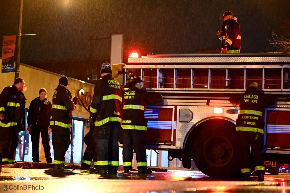
[[(113, 65), (113, 70), (114, 70)], [(276, 102), (263, 112), (264, 160), (268, 172), (278, 174), (279, 164), (290, 160), (290, 54), (149, 54), (128, 58), (118, 80), (137, 73), (143, 89), (160, 93), (164, 100), (147, 106), (146, 148), (168, 150), (184, 168), (197, 168), (211, 177), (240, 173), (235, 144), (238, 107), (229, 97), (244, 93), (253, 81)]]

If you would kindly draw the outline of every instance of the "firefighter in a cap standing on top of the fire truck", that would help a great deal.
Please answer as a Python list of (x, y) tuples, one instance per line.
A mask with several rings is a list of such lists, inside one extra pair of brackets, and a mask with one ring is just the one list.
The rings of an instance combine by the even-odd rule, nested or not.
[(222, 40), (222, 51), (220, 53), (240, 53), (241, 32), (237, 18), (233, 17), (232, 12), (226, 11), (221, 19), (224, 19), (224, 25), (222, 30), (219, 30), (217, 33), (218, 38)]

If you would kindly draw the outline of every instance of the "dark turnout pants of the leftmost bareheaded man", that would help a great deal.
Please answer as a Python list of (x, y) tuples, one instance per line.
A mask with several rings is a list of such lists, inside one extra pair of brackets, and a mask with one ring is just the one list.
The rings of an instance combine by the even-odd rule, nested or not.
[(2, 162), (14, 162), (15, 150), (18, 146), (18, 141), (18, 127), (0, 126), (0, 152), (2, 155)]

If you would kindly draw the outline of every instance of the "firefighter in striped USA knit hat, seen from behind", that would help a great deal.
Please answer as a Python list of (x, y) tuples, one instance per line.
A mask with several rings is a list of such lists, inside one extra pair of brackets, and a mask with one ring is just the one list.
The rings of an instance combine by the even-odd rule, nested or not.
[(91, 120), (95, 123), (96, 151), (91, 173), (117, 173), (119, 166), (119, 138), (123, 108), (123, 87), (112, 76), (109, 63), (104, 63), (97, 80), (90, 106)]

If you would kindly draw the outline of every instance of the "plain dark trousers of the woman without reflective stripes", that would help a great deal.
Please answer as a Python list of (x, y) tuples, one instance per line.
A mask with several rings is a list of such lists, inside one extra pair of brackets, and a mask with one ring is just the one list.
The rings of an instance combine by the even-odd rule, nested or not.
[(44, 148), (44, 155), (47, 163), (52, 163), (50, 157), (50, 145), (48, 128), (40, 125), (32, 125), (31, 127), (31, 143), (32, 143), (32, 161), (39, 162), (39, 133), (41, 133), (42, 145)]

